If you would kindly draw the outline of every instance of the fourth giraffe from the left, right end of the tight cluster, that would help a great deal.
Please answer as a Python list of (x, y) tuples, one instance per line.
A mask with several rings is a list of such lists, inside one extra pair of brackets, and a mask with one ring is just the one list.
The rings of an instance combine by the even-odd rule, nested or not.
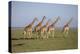
[(51, 37), (53, 37), (53, 38), (54, 38), (54, 34), (55, 34), (55, 24), (58, 22), (59, 19), (60, 19), (60, 17), (58, 16), (57, 19), (48, 26), (48, 30), (47, 30), (48, 35), (49, 36), (51, 35)]

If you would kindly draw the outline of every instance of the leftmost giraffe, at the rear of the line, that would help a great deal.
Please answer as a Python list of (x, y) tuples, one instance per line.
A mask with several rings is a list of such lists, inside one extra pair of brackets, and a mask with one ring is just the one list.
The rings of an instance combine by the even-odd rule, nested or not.
[(35, 21), (38, 21), (37, 17), (35, 17), (35, 18), (33, 19), (33, 21), (32, 21), (28, 26), (25, 26), (24, 32), (23, 32), (23, 34), (24, 34), (24, 39), (25, 39), (25, 35), (26, 35), (26, 34), (27, 34), (27, 36), (28, 36), (29, 38), (31, 38), (31, 35), (32, 35), (32, 27), (33, 27)]

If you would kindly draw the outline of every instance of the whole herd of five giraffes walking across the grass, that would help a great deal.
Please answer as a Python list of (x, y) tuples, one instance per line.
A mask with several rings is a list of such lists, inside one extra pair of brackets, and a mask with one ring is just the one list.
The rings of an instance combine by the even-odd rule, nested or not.
[[(57, 19), (52, 22), (51, 24), (49, 22), (51, 22), (51, 19), (49, 19), (45, 25), (42, 25), (43, 22), (45, 21), (46, 17), (43, 16), (42, 20), (35, 26), (34, 26), (34, 23), (38, 21), (38, 18), (35, 17), (33, 19), (33, 21), (27, 25), (25, 28), (24, 28), (24, 39), (26, 38), (32, 38), (32, 34), (33, 32), (35, 32), (37, 35), (36, 37), (37, 38), (49, 38), (49, 35), (51, 35), (51, 37), (54, 38), (54, 34), (55, 34), (55, 24), (58, 22), (58, 20), (60, 20), (60, 17), (58, 16)], [(68, 35), (69, 33), (69, 24), (70, 22), (72, 21), (72, 18), (63, 26), (63, 34), (65, 34), (66, 36)], [(34, 30), (33, 30), (34, 28)]]

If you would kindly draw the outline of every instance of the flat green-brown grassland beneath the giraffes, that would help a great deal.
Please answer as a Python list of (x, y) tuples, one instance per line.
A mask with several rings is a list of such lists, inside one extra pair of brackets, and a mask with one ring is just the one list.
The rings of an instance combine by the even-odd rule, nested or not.
[[(78, 48), (77, 29), (71, 29), (67, 38), (63, 37), (60, 29), (55, 31), (55, 37), (49, 39), (25, 39), (23, 28), (14, 28), (11, 32), (12, 52), (32, 52), (48, 50), (65, 50)], [(33, 37), (36, 35), (33, 33)]]

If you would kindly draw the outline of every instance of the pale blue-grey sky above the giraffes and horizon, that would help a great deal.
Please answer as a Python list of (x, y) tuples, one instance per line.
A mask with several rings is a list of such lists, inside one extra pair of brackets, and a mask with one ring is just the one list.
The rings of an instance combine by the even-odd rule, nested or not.
[(48, 19), (52, 19), (54, 22), (56, 17), (60, 16), (56, 27), (63, 27), (71, 17), (73, 20), (70, 27), (78, 27), (77, 5), (12, 1), (11, 14), (11, 27), (25, 27), (37, 17), (39, 21), (34, 23), (35, 26), (42, 20), (43, 16), (46, 16), (43, 25)]

